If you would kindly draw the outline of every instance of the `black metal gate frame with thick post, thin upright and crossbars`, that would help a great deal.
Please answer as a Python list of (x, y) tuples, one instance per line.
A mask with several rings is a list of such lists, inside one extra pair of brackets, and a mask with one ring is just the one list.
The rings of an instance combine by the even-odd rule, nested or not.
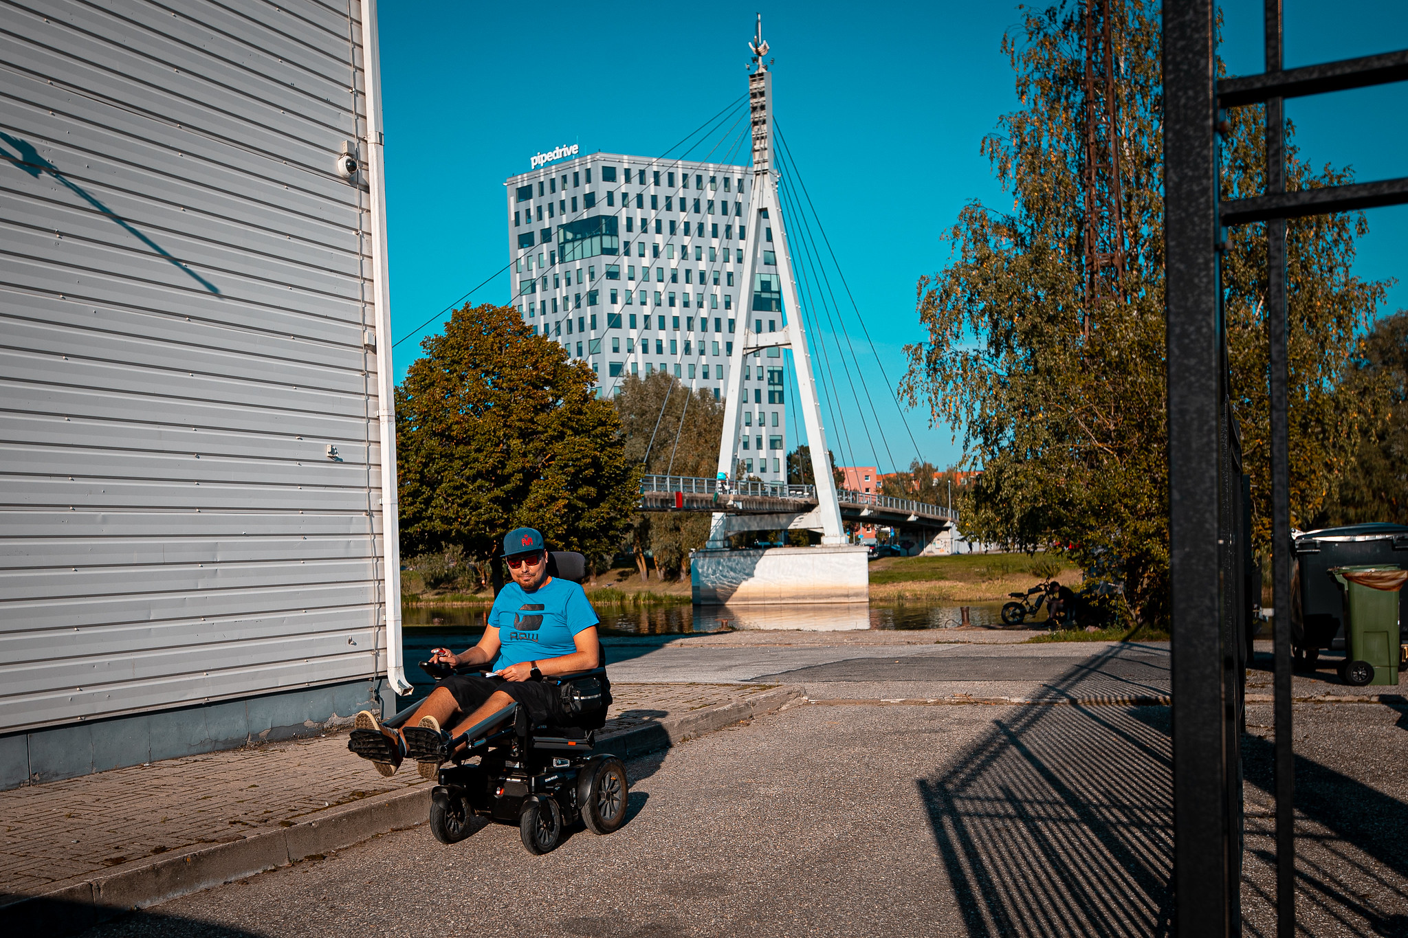
[[(1214, 0), (1163, 1), (1169, 561), (1173, 610), (1174, 934), (1242, 932), (1242, 681), (1249, 492), (1226, 366), (1225, 228), (1266, 222), (1274, 608), (1290, 609), (1286, 219), (1408, 204), (1408, 179), (1287, 193), (1283, 101), (1408, 80), (1408, 51), (1281, 63), (1281, 0), (1264, 0), (1266, 72), (1215, 80)], [(1266, 193), (1219, 201), (1222, 110), (1266, 104)], [(1208, 498), (1218, 492), (1218, 498)], [(1233, 492), (1239, 498), (1233, 496)], [(1240, 503), (1239, 503), (1240, 502)], [(1286, 612), (1277, 616), (1286, 624)], [(1290, 629), (1276, 629), (1277, 935), (1295, 931)], [(1209, 766), (1217, 766), (1209, 771)]]

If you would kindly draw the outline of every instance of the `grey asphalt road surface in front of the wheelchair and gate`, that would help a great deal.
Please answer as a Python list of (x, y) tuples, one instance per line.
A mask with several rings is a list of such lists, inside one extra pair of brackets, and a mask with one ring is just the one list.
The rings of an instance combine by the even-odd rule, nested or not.
[[(1111, 674), (1160, 660), (1025, 645), (838, 661), (1080, 671), (1081, 651)], [(607, 837), (577, 830), (535, 858), (515, 827), (444, 847), (422, 825), (87, 937), (1167, 934), (1167, 707), (895, 706), (881, 700), (936, 682), (880, 676), (808, 681), (822, 703), (632, 762), (629, 821)], [(1295, 719), (1305, 934), (1408, 935), (1405, 709), (1300, 705)], [(1269, 724), (1253, 707), (1247, 934), (1274, 931)]]

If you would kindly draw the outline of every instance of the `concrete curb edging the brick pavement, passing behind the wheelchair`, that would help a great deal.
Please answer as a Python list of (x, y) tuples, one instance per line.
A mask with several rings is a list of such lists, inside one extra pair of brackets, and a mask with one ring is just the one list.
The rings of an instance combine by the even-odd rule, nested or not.
[[(800, 686), (772, 688), (746, 700), (620, 730), (601, 737), (597, 750), (631, 759), (739, 720), (780, 710), (797, 699), (801, 699)], [(134, 861), (114, 872), (56, 883), (39, 896), (0, 896), (0, 903), (13, 900), (0, 904), (0, 918), (11, 923), (14, 934), (72, 935), (137, 908), (303, 859), (322, 859), (325, 854), (377, 834), (424, 824), (429, 814), (429, 793), (428, 785), (389, 792), (320, 811), (315, 818), (291, 827), (173, 851), (149, 861)]]

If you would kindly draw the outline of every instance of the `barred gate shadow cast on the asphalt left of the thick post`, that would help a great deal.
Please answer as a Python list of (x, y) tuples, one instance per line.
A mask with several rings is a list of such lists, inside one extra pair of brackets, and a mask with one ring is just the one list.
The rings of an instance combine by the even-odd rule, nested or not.
[[(1046, 699), (1117, 657), (1046, 685)], [(969, 935), (1167, 935), (1173, 764), (1162, 706), (1031, 705), (919, 780)]]

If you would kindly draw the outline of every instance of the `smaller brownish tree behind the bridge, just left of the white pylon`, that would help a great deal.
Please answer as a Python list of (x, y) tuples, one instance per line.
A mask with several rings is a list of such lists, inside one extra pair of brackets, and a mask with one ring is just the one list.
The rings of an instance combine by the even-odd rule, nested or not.
[[(679, 378), (655, 371), (627, 377), (614, 402), (627, 458), (645, 473), (714, 477), (724, 405), (712, 394), (691, 394)], [(704, 546), (708, 529), (710, 516), (703, 512), (636, 513), (628, 540), (641, 577), (649, 575), (646, 551), (655, 558), (656, 577), (687, 572), (690, 551)]]

